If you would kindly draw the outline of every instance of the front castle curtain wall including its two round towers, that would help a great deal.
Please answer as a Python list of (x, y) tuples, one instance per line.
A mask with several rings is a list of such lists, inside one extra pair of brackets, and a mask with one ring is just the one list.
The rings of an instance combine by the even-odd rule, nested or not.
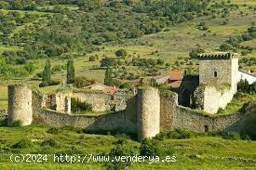
[[(26, 94), (26, 95), (24, 95)], [(28, 95), (29, 94), (29, 95)], [(160, 131), (184, 128), (198, 132), (239, 129), (242, 113), (209, 115), (178, 105), (178, 95), (143, 87), (128, 98), (126, 109), (99, 116), (75, 115), (47, 109), (47, 97), (26, 85), (9, 85), (8, 122), (20, 120), (23, 125), (32, 120), (50, 126), (75, 126), (88, 131), (119, 130), (155, 137)]]

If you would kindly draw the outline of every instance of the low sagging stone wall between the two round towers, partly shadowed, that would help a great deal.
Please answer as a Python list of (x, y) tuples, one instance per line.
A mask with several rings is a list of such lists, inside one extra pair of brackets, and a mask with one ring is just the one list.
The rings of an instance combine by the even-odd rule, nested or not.
[(80, 127), (91, 132), (120, 130), (126, 133), (136, 133), (136, 124), (128, 120), (128, 115), (125, 111), (101, 116), (86, 116), (66, 114), (59, 111), (40, 110), (34, 113), (34, 120), (56, 127)]

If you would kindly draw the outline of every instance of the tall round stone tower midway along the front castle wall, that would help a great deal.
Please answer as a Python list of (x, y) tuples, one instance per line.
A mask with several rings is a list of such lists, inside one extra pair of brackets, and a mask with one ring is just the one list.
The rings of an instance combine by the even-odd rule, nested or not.
[(160, 132), (160, 96), (156, 88), (147, 86), (138, 90), (137, 129), (139, 140)]

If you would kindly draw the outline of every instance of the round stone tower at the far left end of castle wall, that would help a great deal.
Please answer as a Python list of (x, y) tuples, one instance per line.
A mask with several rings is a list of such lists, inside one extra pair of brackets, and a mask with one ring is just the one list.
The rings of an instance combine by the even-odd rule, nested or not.
[(8, 85), (8, 124), (32, 123), (32, 90), (27, 85)]

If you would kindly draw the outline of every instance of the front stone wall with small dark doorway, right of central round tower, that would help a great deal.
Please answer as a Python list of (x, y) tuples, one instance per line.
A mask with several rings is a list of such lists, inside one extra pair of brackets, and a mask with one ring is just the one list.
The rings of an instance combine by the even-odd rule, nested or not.
[(177, 95), (161, 96), (161, 130), (175, 128), (189, 129), (198, 132), (230, 130), (235, 128), (243, 115), (234, 113), (229, 115), (205, 115), (189, 108), (173, 104), (177, 102)]

